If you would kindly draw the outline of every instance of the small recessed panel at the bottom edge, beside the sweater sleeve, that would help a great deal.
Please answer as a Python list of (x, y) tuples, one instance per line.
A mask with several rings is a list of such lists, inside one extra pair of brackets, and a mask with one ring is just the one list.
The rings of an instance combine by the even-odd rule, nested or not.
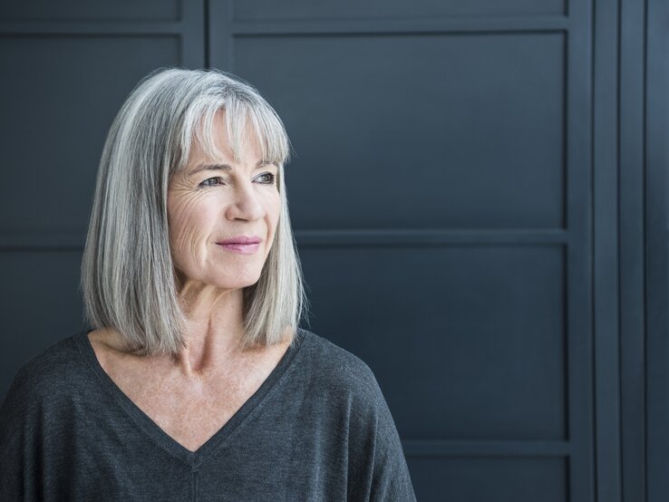
[(407, 459), (421, 502), (567, 502), (564, 459)]

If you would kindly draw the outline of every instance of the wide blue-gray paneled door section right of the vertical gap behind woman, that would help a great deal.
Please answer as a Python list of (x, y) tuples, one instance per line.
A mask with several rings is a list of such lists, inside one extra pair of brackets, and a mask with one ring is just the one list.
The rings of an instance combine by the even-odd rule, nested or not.
[(326, 4), (209, 18), (293, 139), (314, 331), (373, 368), (419, 499), (589, 500), (589, 7)]

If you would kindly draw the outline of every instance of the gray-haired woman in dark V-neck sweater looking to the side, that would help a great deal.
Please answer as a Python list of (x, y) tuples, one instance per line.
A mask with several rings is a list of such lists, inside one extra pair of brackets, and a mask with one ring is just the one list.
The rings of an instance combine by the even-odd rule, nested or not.
[(415, 499), (373, 373), (297, 327), (288, 151), (228, 74), (164, 70), (131, 92), (82, 260), (94, 329), (15, 376), (0, 499)]

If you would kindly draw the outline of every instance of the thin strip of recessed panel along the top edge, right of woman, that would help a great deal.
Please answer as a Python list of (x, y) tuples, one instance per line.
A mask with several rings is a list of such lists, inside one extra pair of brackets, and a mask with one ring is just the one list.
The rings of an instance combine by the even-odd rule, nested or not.
[(234, 17), (240, 21), (265, 19), (386, 19), (439, 17), (456, 15), (524, 15), (563, 14), (563, 0), (468, 0), (441, 2), (440, 0), (341, 0), (314, 2), (313, 0), (236, 0)]

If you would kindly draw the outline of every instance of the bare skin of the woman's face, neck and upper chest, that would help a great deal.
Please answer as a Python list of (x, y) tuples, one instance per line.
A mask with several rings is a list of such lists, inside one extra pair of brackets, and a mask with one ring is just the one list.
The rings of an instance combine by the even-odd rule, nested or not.
[[(194, 144), (188, 165), (168, 188), (170, 248), (187, 316), (187, 347), (176, 357), (140, 356), (124, 350), (119, 333), (89, 333), (111, 380), (191, 451), (257, 391), (288, 347), (286, 342), (246, 352), (236, 348), (243, 333), (242, 290), (257, 282), (267, 260), (281, 199), (278, 169), (263, 162), (257, 143), (247, 141), (236, 162), (222, 111), (214, 127), (218, 158), (208, 158)], [(260, 237), (257, 252), (233, 253), (218, 244), (238, 236)]]

